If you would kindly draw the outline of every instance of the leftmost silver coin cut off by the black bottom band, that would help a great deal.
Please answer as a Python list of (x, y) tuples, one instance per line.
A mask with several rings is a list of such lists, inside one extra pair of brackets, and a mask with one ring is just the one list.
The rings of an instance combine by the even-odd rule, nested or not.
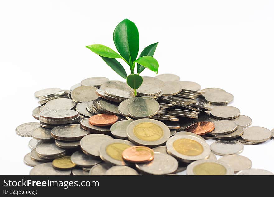
[(52, 163), (44, 163), (34, 166), (30, 175), (70, 175), (71, 170), (57, 170), (52, 167)]

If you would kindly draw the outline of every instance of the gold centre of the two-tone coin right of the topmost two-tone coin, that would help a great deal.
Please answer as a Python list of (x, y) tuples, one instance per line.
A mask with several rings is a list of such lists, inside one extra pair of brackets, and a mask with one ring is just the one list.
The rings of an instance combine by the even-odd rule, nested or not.
[(173, 148), (178, 153), (187, 156), (200, 155), (204, 151), (203, 146), (199, 142), (186, 138), (175, 140)]

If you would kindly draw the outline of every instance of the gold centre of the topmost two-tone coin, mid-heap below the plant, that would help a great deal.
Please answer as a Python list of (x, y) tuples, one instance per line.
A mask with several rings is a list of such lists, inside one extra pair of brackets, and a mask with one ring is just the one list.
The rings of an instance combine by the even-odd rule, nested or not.
[(145, 141), (156, 141), (163, 137), (163, 129), (152, 122), (143, 122), (136, 125), (133, 129), (134, 135)]

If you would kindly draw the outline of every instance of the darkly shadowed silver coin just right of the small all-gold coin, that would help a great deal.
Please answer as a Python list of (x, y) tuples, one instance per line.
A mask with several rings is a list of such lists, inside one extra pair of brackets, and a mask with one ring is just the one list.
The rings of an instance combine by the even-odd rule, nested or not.
[(102, 162), (101, 159), (86, 155), (82, 151), (76, 151), (70, 159), (73, 164), (83, 168), (89, 168)]

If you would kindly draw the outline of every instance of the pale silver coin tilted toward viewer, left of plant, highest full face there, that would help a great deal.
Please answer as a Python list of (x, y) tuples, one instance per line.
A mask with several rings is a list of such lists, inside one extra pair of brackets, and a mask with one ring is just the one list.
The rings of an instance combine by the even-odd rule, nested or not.
[(88, 102), (98, 98), (96, 94), (96, 87), (93, 86), (80, 86), (71, 92), (71, 99), (77, 103)]

